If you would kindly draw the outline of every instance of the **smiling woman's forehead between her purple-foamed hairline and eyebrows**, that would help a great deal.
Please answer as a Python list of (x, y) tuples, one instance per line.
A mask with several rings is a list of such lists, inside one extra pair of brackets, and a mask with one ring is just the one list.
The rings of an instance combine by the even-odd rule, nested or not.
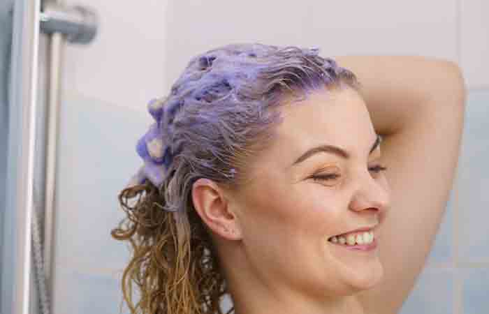
[(353, 158), (363, 158), (377, 138), (359, 96), (311, 94), (280, 110), (283, 119), (276, 126), (272, 143), (257, 156), (262, 170), (264, 165), (287, 170), (302, 154), (325, 145), (341, 147)]

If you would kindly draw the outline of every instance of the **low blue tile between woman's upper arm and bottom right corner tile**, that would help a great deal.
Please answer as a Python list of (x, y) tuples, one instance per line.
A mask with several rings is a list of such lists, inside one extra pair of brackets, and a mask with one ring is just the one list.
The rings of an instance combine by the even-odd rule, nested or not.
[(453, 311), (453, 269), (425, 268), (400, 314), (451, 314)]

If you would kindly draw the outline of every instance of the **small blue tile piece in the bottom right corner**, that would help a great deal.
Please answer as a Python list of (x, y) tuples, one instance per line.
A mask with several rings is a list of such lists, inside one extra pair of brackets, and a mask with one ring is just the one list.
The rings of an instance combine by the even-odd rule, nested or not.
[(461, 275), (463, 313), (488, 313), (489, 269), (463, 269)]

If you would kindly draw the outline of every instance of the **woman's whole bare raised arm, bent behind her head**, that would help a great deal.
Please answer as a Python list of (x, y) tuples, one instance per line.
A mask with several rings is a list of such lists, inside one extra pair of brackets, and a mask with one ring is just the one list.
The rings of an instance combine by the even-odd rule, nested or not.
[(465, 82), (456, 63), (430, 57), (333, 57), (363, 84), (388, 166), (391, 210), (380, 230), (384, 281), (359, 294), (367, 314), (400, 310), (430, 253), (460, 154)]

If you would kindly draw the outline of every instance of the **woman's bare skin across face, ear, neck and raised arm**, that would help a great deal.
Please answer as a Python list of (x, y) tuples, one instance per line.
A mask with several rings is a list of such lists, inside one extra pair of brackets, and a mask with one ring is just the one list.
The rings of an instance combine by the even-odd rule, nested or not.
[[(194, 184), (237, 314), (397, 313), (432, 246), (460, 149), (458, 68), (419, 57), (335, 59), (356, 73), (363, 94), (323, 90), (284, 105), (277, 138), (250, 163), (245, 188)], [(376, 133), (384, 140), (370, 154)], [(293, 165), (325, 144), (350, 158), (321, 152)], [(312, 177), (321, 174), (339, 177)], [(366, 226), (376, 227), (377, 251), (327, 241)]]

